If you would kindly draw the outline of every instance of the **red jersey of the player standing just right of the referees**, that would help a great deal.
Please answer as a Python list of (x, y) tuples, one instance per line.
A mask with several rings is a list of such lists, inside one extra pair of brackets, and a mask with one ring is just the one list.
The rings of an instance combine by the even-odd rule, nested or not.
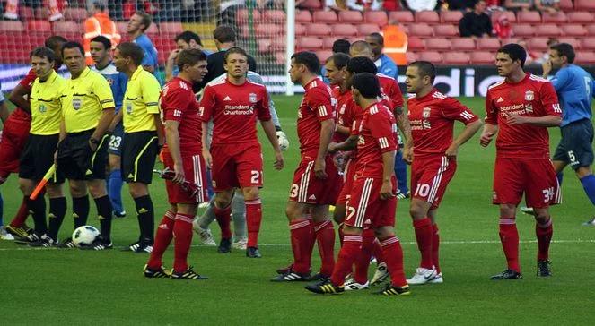
[(202, 120), (192, 83), (175, 77), (162, 90), (163, 120), (178, 121), (179, 150), (184, 155), (202, 151)]

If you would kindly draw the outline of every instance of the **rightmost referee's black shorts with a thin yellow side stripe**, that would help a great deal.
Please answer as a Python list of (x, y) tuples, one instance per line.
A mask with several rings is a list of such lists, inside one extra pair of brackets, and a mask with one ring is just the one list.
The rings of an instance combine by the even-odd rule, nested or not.
[(122, 180), (151, 184), (155, 159), (159, 154), (157, 132), (124, 133), (121, 151)]

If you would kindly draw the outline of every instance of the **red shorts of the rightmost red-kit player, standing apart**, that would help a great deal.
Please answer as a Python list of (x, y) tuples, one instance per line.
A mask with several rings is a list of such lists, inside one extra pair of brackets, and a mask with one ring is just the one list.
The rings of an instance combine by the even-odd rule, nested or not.
[(523, 193), (528, 207), (546, 208), (562, 201), (552, 161), (496, 158), (492, 202), (518, 205)]

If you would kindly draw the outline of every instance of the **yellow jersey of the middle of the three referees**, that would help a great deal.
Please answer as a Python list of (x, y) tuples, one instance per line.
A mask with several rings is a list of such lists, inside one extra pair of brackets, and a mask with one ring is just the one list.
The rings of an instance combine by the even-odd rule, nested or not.
[(66, 81), (62, 109), (66, 133), (80, 133), (97, 127), (101, 112), (115, 107), (109, 82), (89, 67), (75, 79)]

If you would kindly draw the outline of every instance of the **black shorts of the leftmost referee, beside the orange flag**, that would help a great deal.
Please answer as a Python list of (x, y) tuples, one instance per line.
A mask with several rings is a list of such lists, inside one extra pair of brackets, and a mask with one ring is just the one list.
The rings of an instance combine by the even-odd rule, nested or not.
[[(41, 180), (54, 164), (54, 153), (59, 138), (59, 134), (30, 134), (19, 160), (19, 177), (35, 181)], [(62, 184), (64, 175), (60, 171), (56, 171), (49, 182)]]

